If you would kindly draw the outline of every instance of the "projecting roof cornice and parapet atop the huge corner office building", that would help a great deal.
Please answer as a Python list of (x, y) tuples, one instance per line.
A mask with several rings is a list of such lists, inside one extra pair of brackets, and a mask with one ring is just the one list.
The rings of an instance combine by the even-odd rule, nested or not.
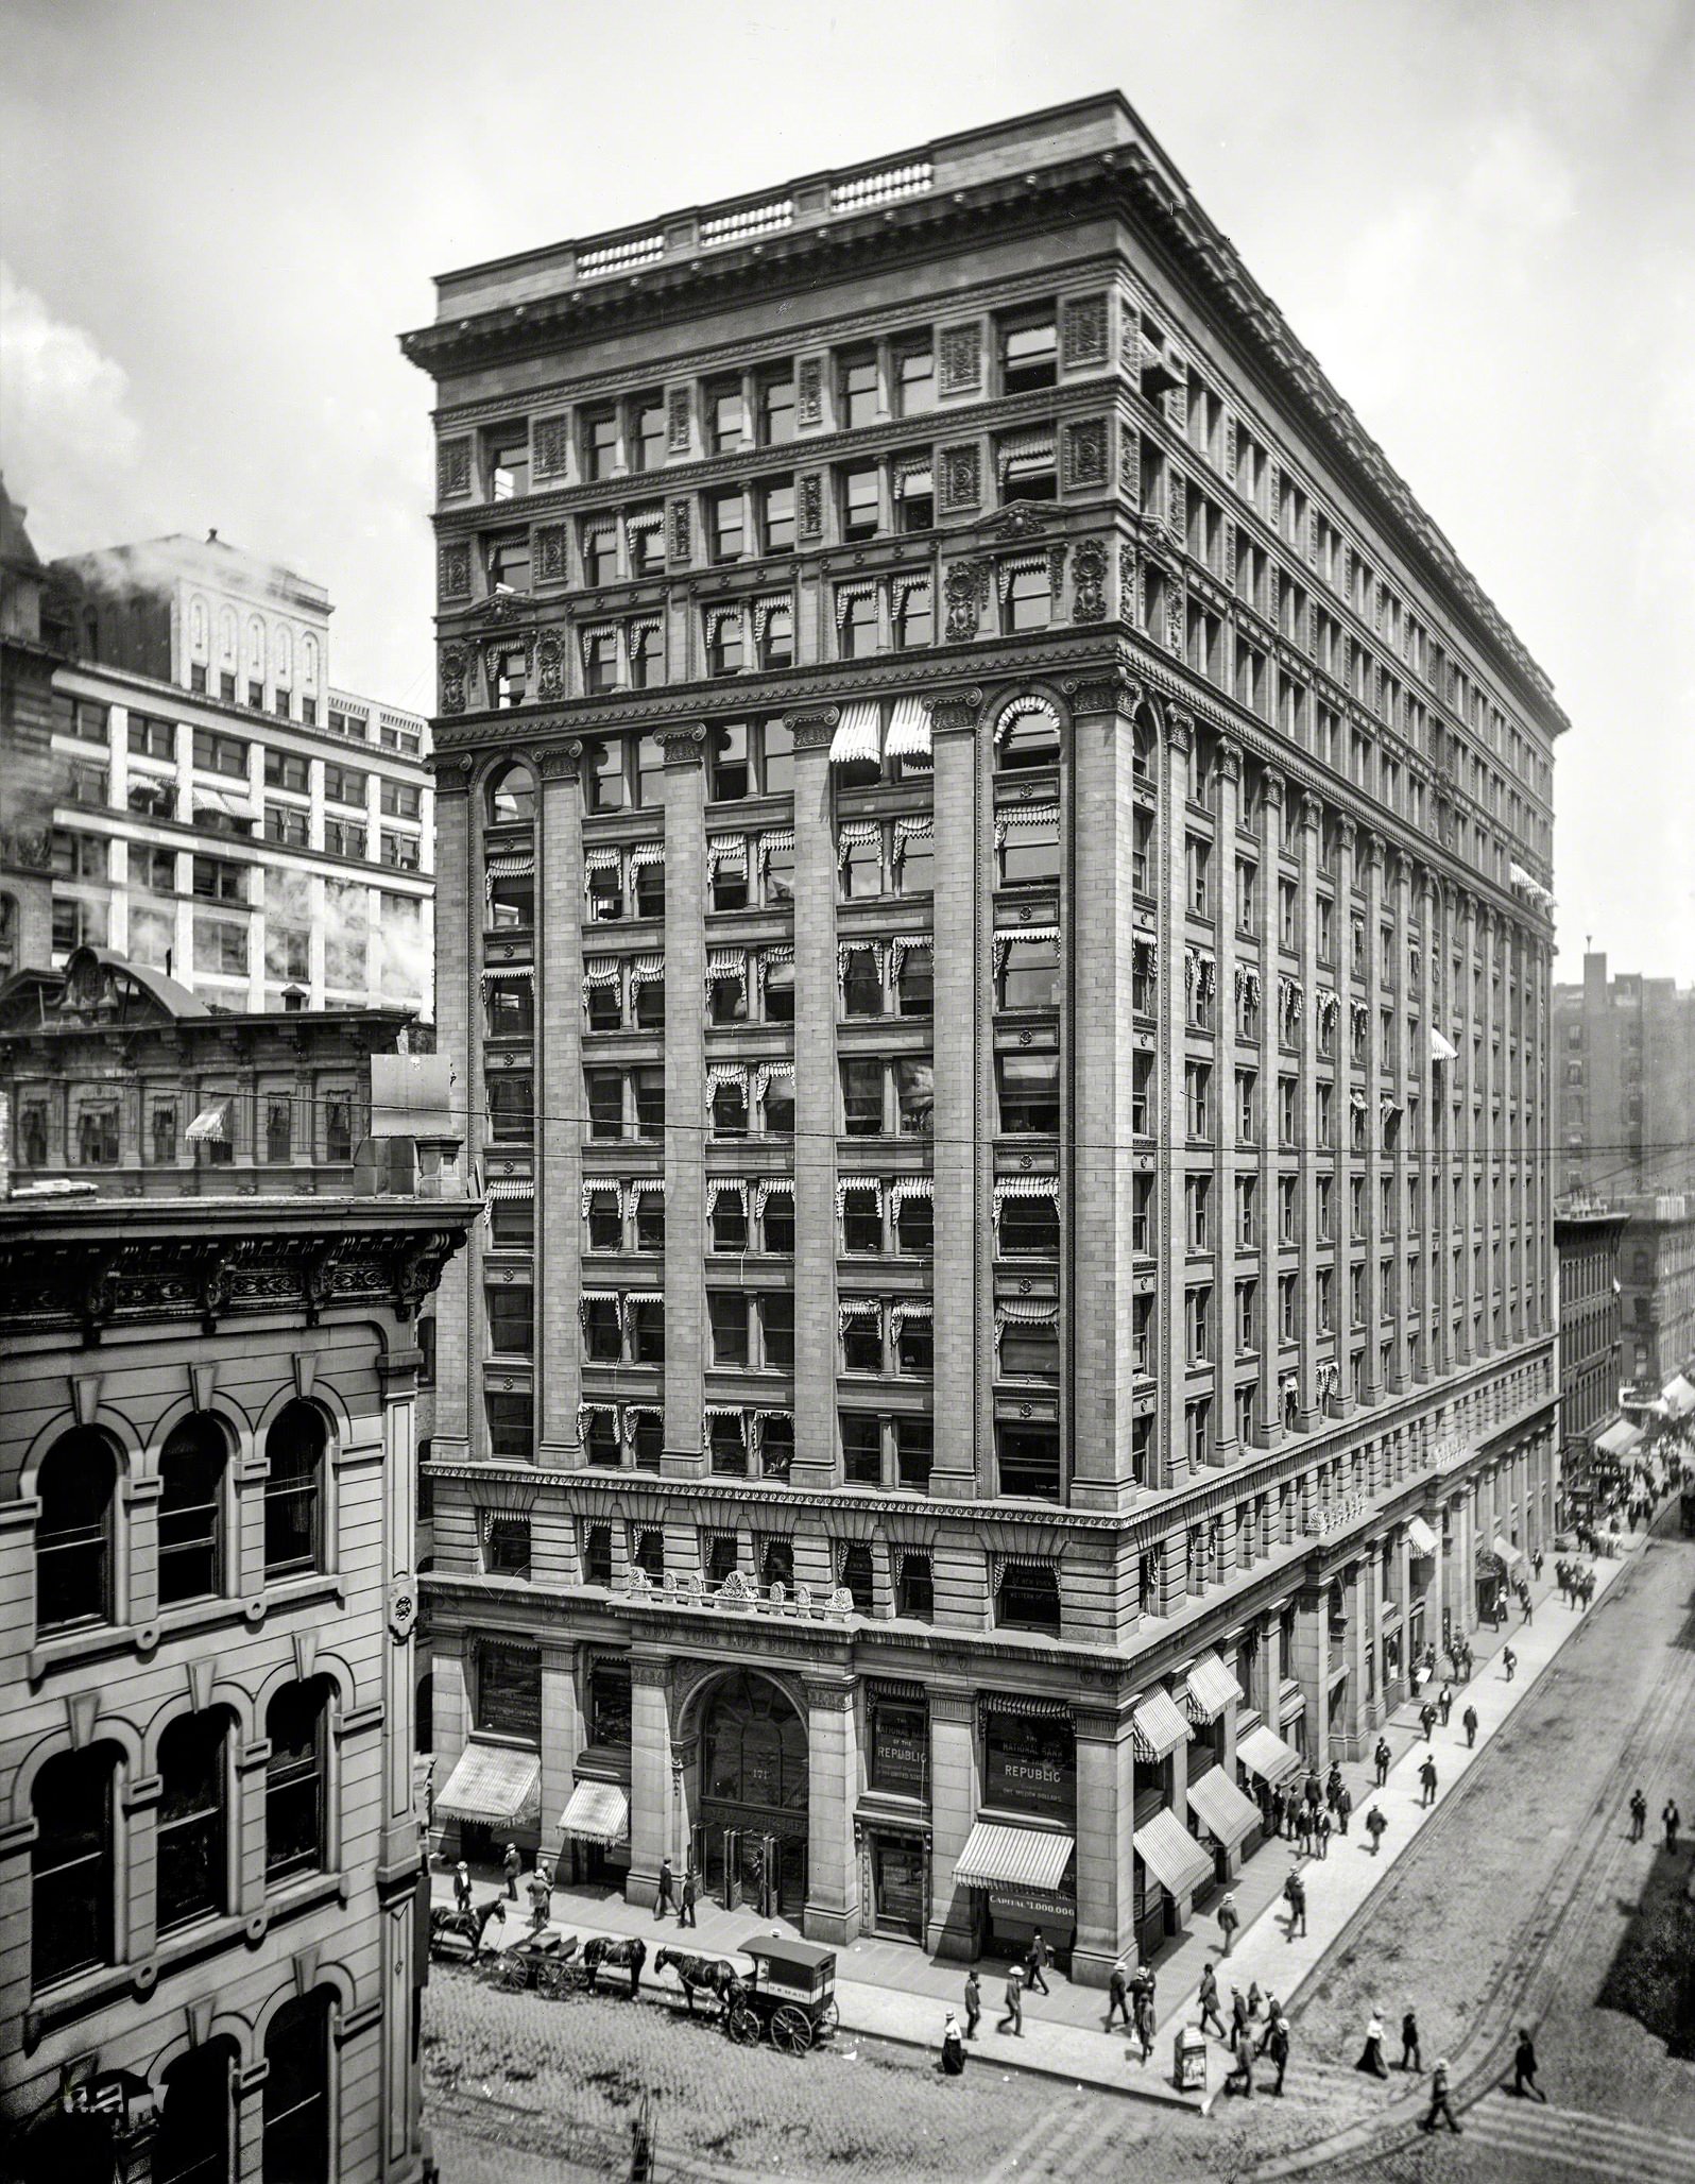
[[(941, 181), (948, 153), (959, 153), (974, 140), (1009, 135), (1020, 129), (1035, 135), (1040, 127), (1053, 127), (1059, 118), (1090, 114), (1099, 114), (1103, 122), (1121, 124), (1110, 131), (1114, 140), (1101, 149), (1044, 159), (1040, 142), (1033, 140), (1027, 164), (1003, 166), (987, 179), (961, 181), (957, 188), (926, 186), (922, 194), (902, 197), (896, 203), (826, 212), (810, 225), (780, 227), (749, 240), (712, 247), (699, 240), (703, 227), (714, 218), (734, 221), (745, 214), (751, 221), (762, 203), (799, 199), (808, 188), (823, 188), (828, 199), (830, 190), (852, 181), (852, 175), (806, 177), (760, 192), (756, 199), (668, 214), (647, 223), (644, 229), (592, 236), (583, 242), (496, 260), (467, 269), (463, 275), (443, 275), (439, 282), (441, 317), (432, 325), (402, 334), (402, 354), (439, 382), (459, 371), (548, 354), (561, 341), (605, 339), (614, 328), (675, 323), (679, 312), (721, 310), (751, 297), (769, 304), (791, 288), (810, 288), (819, 280), (834, 277), (837, 271), (863, 273), (900, 258), (935, 256), (941, 247), (987, 232), (996, 240), (1007, 240), (1020, 232), (1042, 232), (1066, 212), (1121, 212), (1188, 280), (1197, 299), (1212, 310), (1238, 349), (1258, 365), (1315, 446), (1376, 511), (1402, 553), (1420, 566), (1453, 609), (1470, 620), (1479, 640), (1536, 708), (1540, 725), (1551, 736), (1564, 734), (1570, 721), (1557, 705), (1544, 668), (1538, 666), (1501, 609), (1463, 566), (1450, 539), (1413, 498), (1411, 487), (1394, 470), (1383, 448), (1247, 271), (1232, 240), (1201, 210), (1177, 166), (1121, 94), (1110, 92), (1101, 98), (1077, 100), (1072, 107), (1022, 116), (998, 131), (968, 131), (959, 138), (937, 140), (915, 153), (876, 162), (876, 166), (898, 173), (928, 162)], [(970, 170), (970, 164), (963, 164)], [(684, 234), (692, 236), (692, 242), (673, 247), (671, 238)], [(581, 273), (583, 262), (596, 253), (616, 256), (620, 249), (636, 249), (651, 238), (660, 238), (664, 249), (636, 262), (631, 271), (598, 277)], [(546, 264), (557, 266), (557, 286), (540, 286), (531, 293), (531, 282)], [(452, 306), (454, 282), (487, 275), (491, 286), (498, 275), (507, 275), (513, 286), (520, 286), (524, 269), (531, 269), (531, 277), (522, 282), (526, 293), (520, 301), (457, 314)]]

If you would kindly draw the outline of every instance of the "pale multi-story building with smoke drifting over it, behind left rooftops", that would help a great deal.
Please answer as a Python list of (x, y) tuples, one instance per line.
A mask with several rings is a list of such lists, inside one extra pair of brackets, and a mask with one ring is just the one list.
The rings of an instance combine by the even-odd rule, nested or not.
[(0, 526), (0, 968), (94, 946), (238, 1013), (426, 1009), (428, 729), (330, 686), (323, 587), (216, 533), (42, 570)]

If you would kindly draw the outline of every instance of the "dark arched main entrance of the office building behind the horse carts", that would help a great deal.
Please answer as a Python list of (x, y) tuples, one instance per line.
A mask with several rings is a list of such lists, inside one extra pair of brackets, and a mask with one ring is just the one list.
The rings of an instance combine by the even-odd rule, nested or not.
[(806, 1723), (762, 1675), (723, 1677), (701, 1708), (695, 1863), (730, 1909), (802, 1915)]

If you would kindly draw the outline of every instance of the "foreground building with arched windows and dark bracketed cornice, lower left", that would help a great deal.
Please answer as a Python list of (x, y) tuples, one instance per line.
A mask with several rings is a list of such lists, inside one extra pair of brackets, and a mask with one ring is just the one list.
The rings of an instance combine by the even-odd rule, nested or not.
[(31, 2175), (422, 2175), (413, 1315), (474, 1212), (0, 1201), (0, 2127)]

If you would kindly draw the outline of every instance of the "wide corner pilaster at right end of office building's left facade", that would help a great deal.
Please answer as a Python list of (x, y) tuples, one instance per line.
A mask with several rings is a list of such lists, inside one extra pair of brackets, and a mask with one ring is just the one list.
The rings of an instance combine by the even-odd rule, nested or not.
[(1062, 1173), (1070, 1500), (1079, 1509), (1121, 1509), (1136, 1492), (1136, 1018), (1129, 1009), (1136, 919), (1129, 860), (1136, 830), (1131, 716), (1142, 690), (1123, 668), (1083, 675), (1064, 688), (1072, 705), (1068, 902), (1077, 906), (1064, 933), (1068, 1138), (1088, 1149), (1081, 1162), (1072, 1158), (1068, 1175)]

